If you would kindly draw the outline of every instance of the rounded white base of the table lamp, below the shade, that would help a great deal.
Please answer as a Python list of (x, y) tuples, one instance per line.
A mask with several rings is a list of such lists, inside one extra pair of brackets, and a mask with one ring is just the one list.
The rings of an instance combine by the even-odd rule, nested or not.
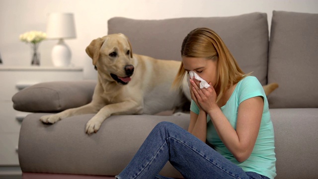
[(52, 63), (55, 67), (68, 67), (71, 64), (72, 53), (68, 45), (63, 39), (52, 49)]

